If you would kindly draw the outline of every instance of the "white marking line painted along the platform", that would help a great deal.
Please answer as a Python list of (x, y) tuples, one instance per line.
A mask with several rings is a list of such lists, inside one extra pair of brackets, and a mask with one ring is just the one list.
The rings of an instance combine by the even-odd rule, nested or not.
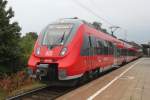
[[(143, 59), (144, 60), (144, 59)], [(109, 86), (111, 86), (115, 81), (117, 81), (120, 77), (122, 77), (126, 72), (128, 72), (130, 69), (132, 69), (135, 65), (137, 65), (138, 63), (140, 63), (140, 61), (134, 63), (133, 65), (131, 65), (129, 68), (127, 68), (124, 72), (122, 72), (119, 76), (116, 76), (112, 81), (110, 81), (107, 85), (105, 85), (104, 87), (102, 87), (100, 90), (98, 90), (96, 93), (94, 93), (92, 96), (90, 96), (89, 98), (87, 98), (87, 100), (93, 100), (96, 96), (98, 96), (100, 93), (102, 93), (104, 90), (106, 90)]]

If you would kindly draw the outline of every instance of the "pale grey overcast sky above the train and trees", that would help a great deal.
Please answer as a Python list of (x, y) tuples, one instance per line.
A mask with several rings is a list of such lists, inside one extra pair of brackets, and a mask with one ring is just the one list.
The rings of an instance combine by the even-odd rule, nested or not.
[[(150, 41), (150, 0), (78, 0), (104, 20), (97, 18), (76, 0), (8, 0), (22, 33), (40, 32), (47, 24), (59, 19), (77, 16), (87, 21), (100, 21), (104, 27), (120, 26), (115, 33), (138, 43)], [(109, 22), (109, 23), (108, 23)], [(127, 32), (127, 35), (125, 33)]]

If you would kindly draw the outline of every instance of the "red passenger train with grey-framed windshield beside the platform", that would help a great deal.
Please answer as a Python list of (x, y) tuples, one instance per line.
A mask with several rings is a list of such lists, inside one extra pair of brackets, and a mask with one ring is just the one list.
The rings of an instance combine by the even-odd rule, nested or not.
[(40, 33), (28, 66), (30, 74), (41, 80), (90, 79), (138, 58), (139, 53), (83, 20), (61, 19)]

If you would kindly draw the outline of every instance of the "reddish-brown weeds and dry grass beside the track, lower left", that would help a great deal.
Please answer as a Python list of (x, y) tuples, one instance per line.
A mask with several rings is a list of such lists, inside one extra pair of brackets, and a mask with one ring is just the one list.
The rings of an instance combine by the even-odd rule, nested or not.
[(46, 85), (30, 78), (24, 71), (4, 76), (0, 79), (0, 100), (43, 86)]

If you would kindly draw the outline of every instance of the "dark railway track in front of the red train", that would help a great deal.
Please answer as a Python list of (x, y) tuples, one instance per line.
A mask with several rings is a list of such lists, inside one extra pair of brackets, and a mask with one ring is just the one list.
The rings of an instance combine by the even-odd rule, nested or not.
[(54, 100), (72, 89), (73, 88), (68, 87), (48, 86), (18, 94), (14, 97), (7, 98), (6, 100)]

